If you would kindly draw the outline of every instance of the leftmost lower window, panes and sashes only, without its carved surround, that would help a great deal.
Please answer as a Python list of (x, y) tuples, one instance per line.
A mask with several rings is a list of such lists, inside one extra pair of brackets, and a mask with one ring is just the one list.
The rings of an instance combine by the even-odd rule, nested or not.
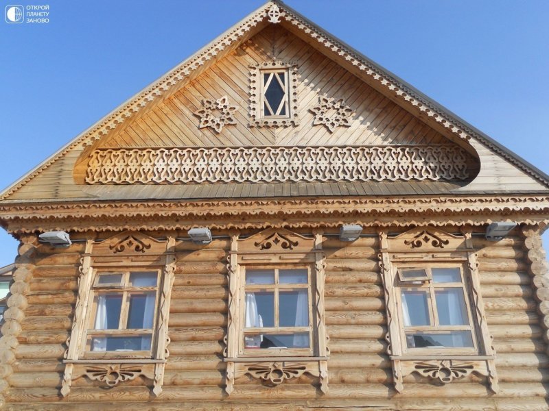
[(89, 319), (87, 356), (150, 357), (159, 271), (97, 271)]

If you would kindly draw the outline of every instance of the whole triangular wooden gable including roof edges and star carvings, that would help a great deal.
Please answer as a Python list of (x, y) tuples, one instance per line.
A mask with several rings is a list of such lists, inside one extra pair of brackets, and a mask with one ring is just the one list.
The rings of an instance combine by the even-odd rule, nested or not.
[[(292, 90), (291, 85), (288, 86), (291, 95), (288, 108), (292, 110), (292, 116), (287, 121), (275, 122), (277, 124), (261, 123), (254, 114), (259, 110), (261, 101), (254, 97), (258, 91), (257, 79), (254, 84), (252, 78), (253, 71), (270, 62), (288, 67), (288, 73), (294, 75), (295, 88)], [(435, 173), (432, 181), (461, 182), (453, 190), (532, 192), (548, 190), (549, 186), (546, 175), (472, 129), (401, 79), (283, 3), (269, 1), (75, 138), (67, 147), (5, 190), (2, 198), (14, 201), (112, 199), (116, 197), (113, 197), (116, 191), (121, 198), (137, 199), (144, 198), (140, 196), (147, 190), (132, 190), (132, 184), (209, 182), (207, 178), (202, 181), (174, 180), (171, 177), (161, 181), (149, 181), (144, 177), (124, 179), (125, 175), (131, 174), (131, 170), (134, 177), (148, 173), (146, 167), (144, 171), (135, 169), (141, 164), (141, 153), (146, 150), (162, 157), (164, 153), (159, 150), (185, 148), (189, 151), (198, 147), (240, 150), (250, 147), (372, 146), (398, 147), (395, 153), (387, 154), (388, 157), (377, 151), (376, 155), (385, 160), (392, 158), (388, 161), (398, 166), (403, 164), (403, 158), (408, 158), (406, 161), (410, 162), (410, 169), (414, 167), (412, 162), (417, 158), (419, 147), (430, 147), (430, 150), (435, 147), (439, 151), (436, 151), (433, 161), (445, 158), (449, 163), (441, 163), (436, 168), (455, 169), (457, 161), (460, 163), (458, 169), (467, 171), (461, 174), (459, 171), (447, 172), (442, 177), (440, 173)], [(408, 146), (412, 148), (406, 148)], [(122, 153), (124, 150), (126, 152)], [(334, 148), (333, 151), (337, 150)], [(124, 187), (115, 190), (112, 186), (94, 186), (93, 179), (86, 177), (95, 173), (91, 164), (97, 166), (100, 155), (115, 158), (121, 153), (126, 155), (127, 163), (116, 165), (117, 160), (113, 160), (113, 169), (118, 177), (112, 181), (97, 180), (97, 183), (124, 184)], [(179, 154), (175, 155), (178, 158)], [(189, 155), (196, 157), (194, 152)], [(289, 154), (281, 154), (282, 157), (285, 155)], [(330, 151), (329, 155), (340, 154)], [(345, 153), (341, 155), (344, 159)], [(366, 151), (360, 155), (371, 158)], [(432, 153), (423, 155), (425, 158), (421, 161), (425, 164), (433, 158)], [(318, 158), (309, 155), (308, 161)], [(156, 160), (151, 161), (156, 164)], [(171, 164), (166, 161), (166, 164)], [(344, 164), (347, 160), (341, 161)], [(102, 173), (113, 175), (115, 171), (110, 171), (108, 167), (104, 166)], [(401, 174), (395, 175), (392, 167), (395, 166), (389, 164), (389, 171), (374, 181), (408, 181), (417, 179), (417, 175), (421, 177), (421, 173), (410, 177), (406, 174), (408, 171), (399, 171)], [(426, 173), (429, 175), (431, 172)], [(458, 175), (460, 177), (456, 177)], [(343, 176), (342, 180), (355, 181), (357, 178)], [(212, 181), (268, 182), (240, 177), (234, 181)], [(292, 177), (273, 181), (296, 183), (301, 180)], [(314, 184), (316, 181), (337, 179), (311, 177), (303, 181)], [(447, 191), (440, 187), (430, 187), (430, 190), (423, 192)], [(418, 190), (421, 192), (422, 189)], [(226, 191), (229, 194), (234, 190)], [(406, 189), (402, 188), (400, 192), (405, 194)], [(159, 193), (148, 195), (155, 198)]]

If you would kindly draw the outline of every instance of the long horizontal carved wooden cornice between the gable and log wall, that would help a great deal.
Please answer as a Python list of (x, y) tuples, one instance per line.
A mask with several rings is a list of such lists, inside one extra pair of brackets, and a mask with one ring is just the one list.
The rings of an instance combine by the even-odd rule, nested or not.
[(190, 229), (201, 222), (211, 229), (239, 229), (243, 221), (253, 229), (339, 227), (351, 212), (363, 227), (483, 227), (493, 216), (535, 225), (549, 222), (549, 197), (303, 197), (0, 205), (0, 218), (8, 232), (17, 235), (58, 227), (73, 232)]

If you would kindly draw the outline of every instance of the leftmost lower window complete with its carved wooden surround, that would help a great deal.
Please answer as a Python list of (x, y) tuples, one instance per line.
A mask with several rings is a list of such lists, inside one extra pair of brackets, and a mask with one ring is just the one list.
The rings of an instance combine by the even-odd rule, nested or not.
[(84, 377), (113, 388), (141, 378), (162, 393), (175, 238), (124, 232), (87, 240), (61, 395)]

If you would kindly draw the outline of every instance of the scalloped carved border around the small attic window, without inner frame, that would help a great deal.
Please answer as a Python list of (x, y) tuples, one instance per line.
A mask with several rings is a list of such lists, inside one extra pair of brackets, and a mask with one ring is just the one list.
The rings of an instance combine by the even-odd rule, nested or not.
[[(271, 118), (261, 116), (261, 70), (288, 70), (288, 118)], [(288, 127), (299, 125), (297, 105), (297, 64), (292, 62), (262, 62), (250, 65), (250, 127)]]

